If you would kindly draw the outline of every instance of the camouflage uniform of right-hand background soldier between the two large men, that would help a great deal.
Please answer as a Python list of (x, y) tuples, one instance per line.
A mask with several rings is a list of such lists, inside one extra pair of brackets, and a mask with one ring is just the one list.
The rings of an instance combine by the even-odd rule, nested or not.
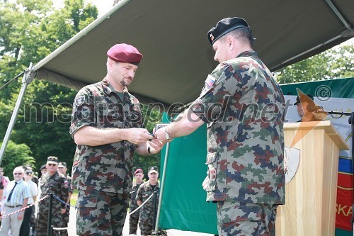
[[(157, 213), (157, 206), (159, 206), (159, 196), (160, 196), (160, 186), (159, 183), (156, 183), (154, 191), (157, 192), (156, 194), (156, 213)], [(146, 181), (144, 184), (139, 186), (137, 191), (137, 201), (147, 201), (147, 198), (154, 193), (152, 190), (152, 186), (150, 185), (150, 181)], [(156, 214), (155, 214), (156, 217)], [(139, 215), (139, 227), (141, 230), (142, 235), (151, 235), (152, 230), (155, 227), (154, 223), (154, 196), (147, 201), (147, 203), (140, 208), (140, 215)]]

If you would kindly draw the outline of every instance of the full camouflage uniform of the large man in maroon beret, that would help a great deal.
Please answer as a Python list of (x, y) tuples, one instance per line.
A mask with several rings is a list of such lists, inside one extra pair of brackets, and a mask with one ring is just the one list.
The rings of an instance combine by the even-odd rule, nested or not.
[[(107, 79), (85, 86), (74, 101), (70, 134), (74, 135), (84, 126), (144, 128), (139, 101), (127, 89), (122, 98), (123, 101)], [(76, 202), (79, 207), (76, 216), (78, 235), (121, 235), (129, 203), (128, 193), (132, 189), (135, 147), (125, 140), (96, 147), (77, 145), (72, 184), (79, 190)]]

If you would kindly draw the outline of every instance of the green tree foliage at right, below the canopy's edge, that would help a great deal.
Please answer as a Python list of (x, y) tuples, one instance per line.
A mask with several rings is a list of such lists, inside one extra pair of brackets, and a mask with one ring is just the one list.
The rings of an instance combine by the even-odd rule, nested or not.
[(280, 84), (354, 77), (354, 47), (333, 47), (275, 72)]

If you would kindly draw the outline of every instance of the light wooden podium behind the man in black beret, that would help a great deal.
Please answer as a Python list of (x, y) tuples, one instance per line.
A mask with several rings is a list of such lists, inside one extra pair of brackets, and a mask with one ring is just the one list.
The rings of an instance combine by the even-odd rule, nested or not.
[(285, 205), (277, 208), (276, 235), (333, 236), (339, 150), (348, 150), (348, 144), (329, 120), (285, 123), (285, 147), (295, 134), (299, 167), (285, 185)]

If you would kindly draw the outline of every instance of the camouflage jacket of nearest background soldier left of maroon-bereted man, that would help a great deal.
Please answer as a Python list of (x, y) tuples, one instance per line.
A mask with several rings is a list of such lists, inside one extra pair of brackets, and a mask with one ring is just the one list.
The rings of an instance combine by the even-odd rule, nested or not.
[[(60, 174), (55, 172), (55, 174), (50, 175), (46, 173), (42, 175), (40, 178), (40, 198), (46, 196), (49, 193), (54, 193), (55, 196), (62, 199), (62, 201), (66, 202), (69, 196), (69, 185), (67, 184), (67, 178), (65, 178), (64, 174)], [(40, 206), (43, 208), (49, 207), (50, 198), (45, 198), (40, 203)], [(59, 203), (59, 201), (53, 200), (53, 208), (56, 210), (60, 210), (60, 208), (66, 208), (64, 203)]]

